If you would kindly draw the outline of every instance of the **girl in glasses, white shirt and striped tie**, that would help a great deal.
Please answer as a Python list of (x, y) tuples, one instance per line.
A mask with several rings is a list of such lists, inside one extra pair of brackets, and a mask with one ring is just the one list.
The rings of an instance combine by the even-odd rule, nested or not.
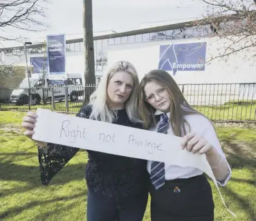
[[(214, 126), (188, 104), (170, 74), (150, 71), (139, 90), (138, 109), (145, 129), (183, 137), (181, 148), (194, 154), (205, 153), (216, 180), (226, 185), (231, 169)], [(152, 221), (214, 220), (212, 190), (202, 171), (151, 161), (147, 170)]]

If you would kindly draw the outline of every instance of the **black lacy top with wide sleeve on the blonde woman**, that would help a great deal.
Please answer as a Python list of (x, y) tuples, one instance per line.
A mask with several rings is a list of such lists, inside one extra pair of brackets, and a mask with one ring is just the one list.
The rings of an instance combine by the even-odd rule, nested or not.
[[(91, 106), (84, 106), (77, 117), (89, 118)], [(142, 124), (133, 123), (125, 109), (119, 110), (113, 124), (143, 128)], [(51, 178), (79, 151), (79, 148), (48, 144), (39, 148), (39, 164), (42, 171), (42, 184), (46, 185)], [(85, 178), (88, 188), (109, 197), (125, 196), (127, 193), (139, 193), (147, 189), (147, 160), (122, 157), (97, 151), (87, 151), (89, 161), (86, 164)]]

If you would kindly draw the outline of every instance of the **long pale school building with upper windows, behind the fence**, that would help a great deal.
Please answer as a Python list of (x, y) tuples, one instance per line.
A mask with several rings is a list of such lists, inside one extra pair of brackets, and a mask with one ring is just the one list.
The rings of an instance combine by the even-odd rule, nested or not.
[[(102, 76), (113, 62), (125, 59), (136, 69), (140, 79), (149, 70), (167, 70), (178, 84), (255, 83), (253, 48), (241, 50), (228, 59), (214, 59), (226, 48), (210, 24), (193, 26), (193, 21), (143, 27), (128, 32), (109, 32), (94, 36), (95, 75)], [(0, 48), (0, 65), (26, 63), (24, 47)], [(28, 64), (34, 73), (42, 70), (46, 47), (44, 44), (27, 46)], [(84, 73), (83, 39), (66, 40), (66, 72)]]

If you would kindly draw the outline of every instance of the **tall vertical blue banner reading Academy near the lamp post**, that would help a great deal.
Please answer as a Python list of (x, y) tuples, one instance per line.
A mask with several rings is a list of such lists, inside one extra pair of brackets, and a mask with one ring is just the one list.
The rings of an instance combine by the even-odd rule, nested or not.
[(65, 75), (66, 73), (66, 37), (65, 35), (47, 36), (48, 73)]

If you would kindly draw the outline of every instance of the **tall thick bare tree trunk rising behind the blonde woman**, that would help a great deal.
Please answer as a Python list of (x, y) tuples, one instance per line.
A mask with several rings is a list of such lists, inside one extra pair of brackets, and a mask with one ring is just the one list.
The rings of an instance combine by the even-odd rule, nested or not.
[(84, 0), (84, 52), (84, 80), (87, 85), (95, 85), (92, 0)]

